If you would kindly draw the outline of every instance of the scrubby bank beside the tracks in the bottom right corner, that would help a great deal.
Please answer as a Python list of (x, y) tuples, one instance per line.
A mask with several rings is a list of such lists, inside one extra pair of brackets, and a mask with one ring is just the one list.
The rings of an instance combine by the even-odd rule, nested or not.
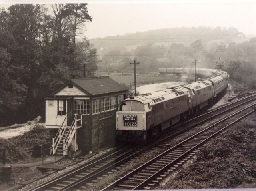
[(256, 187), (256, 115), (208, 142), (192, 161), (155, 189)]

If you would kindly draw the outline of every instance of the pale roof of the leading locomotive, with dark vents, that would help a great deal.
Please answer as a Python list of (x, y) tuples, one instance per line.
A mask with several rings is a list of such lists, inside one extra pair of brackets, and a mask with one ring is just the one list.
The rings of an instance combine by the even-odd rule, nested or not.
[(186, 88), (176, 86), (171, 88), (166, 88), (164, 90), (159, 90), (156, 92), (151, 92), (147, 94), (141, 94), (139, 96), (133, 96), (128, 99), (125, 99), (124, 101), (140, 101), (144, 104), (150, 103), (150, 105), (155, 105), (159, 102), (164, 102), (168, 99), (173, 99), (176, 97), (180, 97), (186, 94), (188, 90)]

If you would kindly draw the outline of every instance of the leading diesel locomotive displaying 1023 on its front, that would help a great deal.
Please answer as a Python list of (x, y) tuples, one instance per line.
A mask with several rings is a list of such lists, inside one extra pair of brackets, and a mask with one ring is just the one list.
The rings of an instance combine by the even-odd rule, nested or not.
[(156, 135), (180, 121), (180, 114), (188, 109), (187, 100), (185, 88), (172, 87), (122, 101), (116, 113), (118, 136), (124, 140), (145, 141), (148, 134)]

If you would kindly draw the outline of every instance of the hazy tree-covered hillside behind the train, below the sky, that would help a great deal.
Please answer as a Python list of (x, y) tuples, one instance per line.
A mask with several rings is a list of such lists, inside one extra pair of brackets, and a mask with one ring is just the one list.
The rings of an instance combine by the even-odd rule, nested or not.
[[(254, 39), (234, 27), (166, 28), (91, 39), (98, 50), (99, 71), (131, 71), (130, 62), (140, 62), (138, 72), (158, 71), (160, 67), (216, 68), (216, 62), (251, 60), (242, 50)], [(248, 47), (247, 47), (248, 48)], [(250, 51), (249, 51), (250, 52)], [(246, 58), (245, 58), (246, 57)]]

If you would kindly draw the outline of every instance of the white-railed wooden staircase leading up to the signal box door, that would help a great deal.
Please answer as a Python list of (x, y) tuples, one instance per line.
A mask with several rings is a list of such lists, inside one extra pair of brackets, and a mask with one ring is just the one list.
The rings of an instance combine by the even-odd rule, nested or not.
[[(80, 119), (78, 119), (80, 116)], [(67, 126), (67, 116), (65, 117), (62, 125), (60, 126), (60, 129), (58, 130), (58, 133), (56, 134), (55, 138), (52, 139), (52, 150), (51, 154), (54, 155), (68, 155), (68, 147), (70, 146), (70, 143), (75, 136), (75, 142), (76, 142), (76, 129), (77, 129), (77, 123), (80, 121), (80, 124), (82, 124), (82, 115), (75, 115), (74, 120), (72, 122), (71, 126)], [(76, 145), (74, 145), (76, 147)]]

